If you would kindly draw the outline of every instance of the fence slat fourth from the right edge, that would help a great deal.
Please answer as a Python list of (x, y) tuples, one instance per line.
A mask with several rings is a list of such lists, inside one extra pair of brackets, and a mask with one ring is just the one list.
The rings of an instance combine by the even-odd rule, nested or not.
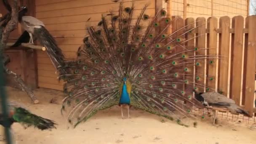
[[(216, 55), (217, 53), (217, 22), (218, 19), (216, 17), (209, 17), (207, 19), (207, 28), (209, 29), (209, 33), (207, 34), (207, 48), (209, 48), (207, 55)], [(216, 60), (212, 61), (212, 63), (207, 63), (209, 77), (207, 77), (206, 85), (208, 88), (216, 90)]]

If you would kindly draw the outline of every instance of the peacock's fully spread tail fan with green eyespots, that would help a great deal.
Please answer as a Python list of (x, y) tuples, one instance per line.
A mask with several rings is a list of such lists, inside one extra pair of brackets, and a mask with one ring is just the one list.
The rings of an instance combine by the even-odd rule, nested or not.
[(70, 124), (75, 126), (97, 111), (119, 104), (124, 77), (133, 107), (178, 123), (180, 117), (191, 116), (192, 107), (202, 107), (192, 90), (205, 87), (204, 75), (196, 73), (193, 81), (194, 66), (200, 67), (205, 59), (215, 61), (217, 56), (197, 54), (207, 48), (184, 46), (194, 40), (186, 34), (197, 27), (190, 28), (190, 24), (168, 34), (172, 20), (166, 11), (149, 16), (147, 7), (135, 17), (134, 5), (120, 3), (118, 13), (102, 16), (96, 27), (87, 28), (77, 59), (66, 61), (72, 74), (62, 75), (67, 78), (68, 96), (61, 110), (69, 111)]

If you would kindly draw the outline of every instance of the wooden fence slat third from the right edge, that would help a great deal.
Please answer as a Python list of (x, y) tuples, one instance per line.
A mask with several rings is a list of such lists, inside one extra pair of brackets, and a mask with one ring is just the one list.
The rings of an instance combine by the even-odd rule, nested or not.
[(227, 96), (228, 89), (228, 70), (229, 70), (229, 29), (230, 18), (223, 16), (219, 19), (219, 28), (221, 33), (219, 34), (219, 80), (218, 91), (221, 91), (223, 95)]

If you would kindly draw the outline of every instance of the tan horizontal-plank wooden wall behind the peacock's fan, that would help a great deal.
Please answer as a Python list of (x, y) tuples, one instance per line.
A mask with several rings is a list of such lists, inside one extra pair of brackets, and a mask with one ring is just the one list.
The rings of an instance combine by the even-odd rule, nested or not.
[[(124, 6), (131, 6), (131, 1), (135, 3), (136, 11), (150, 3), (146, 13), (155, 14), (155, 0), (124, 0)], [(96, 25), (101, 13), (108, 13), (110, 9), (117, 11), (118, 6), (112, 0), (36, 0), (36, 17), (43, 21), (67, 58), (74, 59), (82, 44), (85, 26)], [(86, 22), (89, 18), (90, 21)], [(47, 54), (38, 51), (37, 56), (38, 86), (63, 90)]]

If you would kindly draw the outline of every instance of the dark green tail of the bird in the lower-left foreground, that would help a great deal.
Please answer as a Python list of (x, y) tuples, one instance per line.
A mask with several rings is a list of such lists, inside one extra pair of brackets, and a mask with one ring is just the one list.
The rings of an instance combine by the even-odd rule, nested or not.
[(40, 130), (56, 128), (54, 121), (34, 115), (24, 108), (18, 107), (14, 109), (13, 119), (27, 126), (34, 125)]

